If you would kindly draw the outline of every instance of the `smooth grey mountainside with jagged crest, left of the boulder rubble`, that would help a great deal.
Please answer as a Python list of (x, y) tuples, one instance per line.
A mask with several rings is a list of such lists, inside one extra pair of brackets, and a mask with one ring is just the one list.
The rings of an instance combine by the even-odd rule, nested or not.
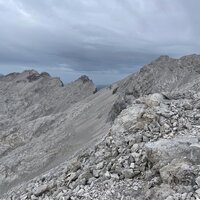
[(36, 71), (0, 78), (1, 193), (69, 159), (108, 129), (115, 97), (95, 92), (86, 76), (67, 85)]

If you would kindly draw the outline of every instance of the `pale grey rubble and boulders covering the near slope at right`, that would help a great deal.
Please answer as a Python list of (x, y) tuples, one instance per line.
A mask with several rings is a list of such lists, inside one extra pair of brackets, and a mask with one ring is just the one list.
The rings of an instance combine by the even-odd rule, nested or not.
[(134, 100), (104, 139), (5, 199), (200, 199), (200, 93)]

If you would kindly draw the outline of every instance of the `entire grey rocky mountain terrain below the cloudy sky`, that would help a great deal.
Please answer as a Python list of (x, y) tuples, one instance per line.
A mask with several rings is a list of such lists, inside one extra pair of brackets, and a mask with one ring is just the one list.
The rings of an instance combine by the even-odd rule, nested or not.
[(100, 91), (0, 77), (3, 200), (200, 199), (200, 56), (161, 56)]

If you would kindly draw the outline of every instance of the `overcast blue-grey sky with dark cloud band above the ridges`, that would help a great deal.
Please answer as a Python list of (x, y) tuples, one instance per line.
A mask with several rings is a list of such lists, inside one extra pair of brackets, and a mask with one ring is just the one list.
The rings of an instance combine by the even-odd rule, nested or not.
[(0, 73), (111, 83), (161, 54), (199, 54), (199, 10), (199, 0), (0, 0)]

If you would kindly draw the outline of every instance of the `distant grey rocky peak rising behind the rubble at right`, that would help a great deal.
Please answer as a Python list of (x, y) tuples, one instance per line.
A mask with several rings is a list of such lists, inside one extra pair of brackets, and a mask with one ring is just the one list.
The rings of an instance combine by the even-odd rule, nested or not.
[(139, 97), (156, 92), (199, 90), (200, 56), (190, 55), (180, 59), (160, 56), (126, 79), (120, 81), (119, 91)]

